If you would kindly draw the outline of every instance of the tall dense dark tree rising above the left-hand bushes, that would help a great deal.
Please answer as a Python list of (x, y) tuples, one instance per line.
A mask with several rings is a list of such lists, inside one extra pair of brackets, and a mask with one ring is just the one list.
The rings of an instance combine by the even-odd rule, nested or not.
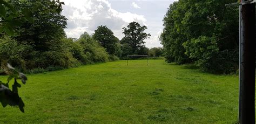
[[(36, 6), (37, 4), (51, 5), (49, 1), (11, 1), (11, 4), (17, 9), (32, 9), (31, 6)], [(33, 23), (25, 22), (17, 28), (21, 34), (15, 36), (17, 42), (31, 44), (39, 52), (49, 51), (52, 45), (59, 44), (60, 39), (65, 37), (64, 29), (66, 28), (66, 20), (68, 19), (61, 15), (62, 8), (59, 11), (53, 9), (47, 11), (49, 11), (47, 14), (41, 12), (34, 13)]]

